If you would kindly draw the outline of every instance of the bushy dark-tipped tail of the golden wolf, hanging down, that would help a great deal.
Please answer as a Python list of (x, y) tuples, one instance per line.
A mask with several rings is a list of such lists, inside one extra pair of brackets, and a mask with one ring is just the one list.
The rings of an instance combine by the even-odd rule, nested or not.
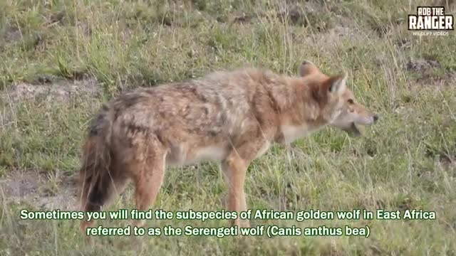
[(111, 134), (113, 118), (105, 109), (90, 125), (83, 145), (80, 170), (81, 208), (84, 211), (101, 210), (113, 193), (115, 172), (111, 165)]

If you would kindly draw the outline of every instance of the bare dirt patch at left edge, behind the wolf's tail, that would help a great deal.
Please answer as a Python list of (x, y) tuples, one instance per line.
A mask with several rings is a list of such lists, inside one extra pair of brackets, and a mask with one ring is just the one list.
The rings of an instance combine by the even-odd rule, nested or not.
[(36, 171), (16, 171), (0, 179), (0, 194), (6, 202), (28, 203), (38, 209), (76, 210), (77, 182), (75, 176), (63, 176), (58, 188), (49, 191), (48, 176)]

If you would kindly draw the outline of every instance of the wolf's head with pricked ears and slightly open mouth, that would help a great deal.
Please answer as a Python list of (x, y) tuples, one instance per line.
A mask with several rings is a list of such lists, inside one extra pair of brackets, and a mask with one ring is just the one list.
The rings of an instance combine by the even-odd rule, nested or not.
[(346, 75), (324, 75), (310, 61), (301, 64), (300, 75), (306, 83), (313, 85), (318, 102), (324, 102), (322, 112), (331, 126), (359, 136), (361, 132), (356, 124), (371, 125), (378, 120), (377, 114), (371, 114), (356, 102), (353, 92), (346, 86)]

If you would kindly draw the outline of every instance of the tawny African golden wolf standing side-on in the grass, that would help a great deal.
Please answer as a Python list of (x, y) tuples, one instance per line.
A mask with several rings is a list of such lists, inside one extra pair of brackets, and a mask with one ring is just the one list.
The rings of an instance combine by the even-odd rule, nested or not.
[[(81, 205), (100, 210), (135, 184), (138, 210), (148, 210), (165, 167), (220, 163), (228, 210), (247, 210), (247, 167), (271, 143), (289, 144), (326, 125), (359, 135), (378, 119), (353, 98), (346, 75), (328, 76), (304, 61), (299, 76), (244, 68), (198, 80), (125, 92), (103, 106), (83, 146)], [(93, 223), (81, 223), (81, 229)], [(249, 226), (247, 220), (232, 225)]]

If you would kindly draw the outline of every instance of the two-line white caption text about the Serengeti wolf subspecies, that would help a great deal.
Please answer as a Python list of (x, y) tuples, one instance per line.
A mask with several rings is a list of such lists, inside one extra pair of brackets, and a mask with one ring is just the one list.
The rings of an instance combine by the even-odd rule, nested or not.
[[(236, 236), (361, 236), (368, 238), (371, 228), (366, 225), (368, 220), (410, 220), (427, 221), (437, 218), (434, 211), (427, 210), (383, 210), (375, 211), (365, 209), (353, 209), (348, 211), (326, 210), (246, 210), (240, 213), (228, 210), (198, 211), (198, 210), (128, 210), (115, 211), (20, 211), (22, 220), (156, 220), (155, 226), (138, 227), (127, 225), (125, 227), (105, 227), (98, 225), (88, 227), (85, 230), (87, 236), (213, 236), (217, 238)], [(238, 226), (214, 227), (211, 221), (254, 220), (257, 223), (273, 222), (267, 225), (256, 225), (252, 228)], [(182, 225), (157, 225), (160, 220), (180, 220)], [(309, 220), (322, 221), (320, 225), (309, 225)], [(333, 220), (346, 220), (346, 224), (331, 224)], [(359, 223), (353, 222), (358, 220)], [(363, 221), (364, 220), (364, 221)], [(326, 222), (325, 222), (326, 221)], [(348, 223), (350, 221), (350, 223)], [(325, 223), (323, 223), (325, 222)], [(304, 224), (304, 225), (303, 225)], [(374, 232), (374, 230), (372, 230)]]

